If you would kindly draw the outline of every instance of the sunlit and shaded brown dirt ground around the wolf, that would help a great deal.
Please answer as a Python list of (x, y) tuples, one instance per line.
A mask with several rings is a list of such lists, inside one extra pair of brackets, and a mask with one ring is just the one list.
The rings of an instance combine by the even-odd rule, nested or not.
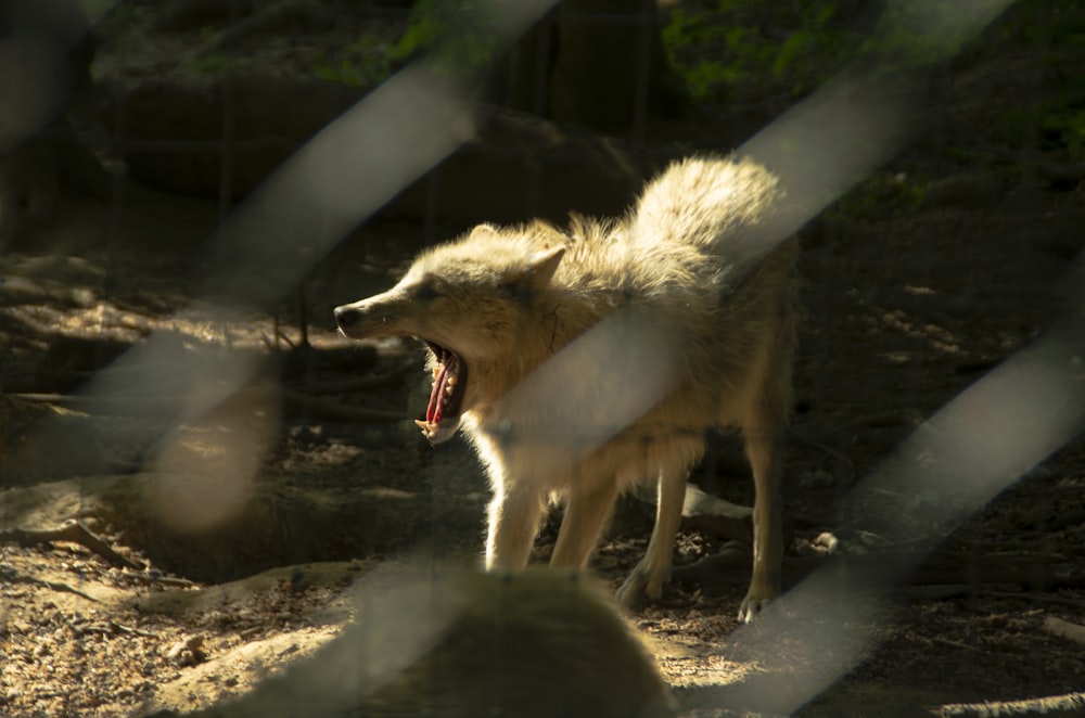
[[(1074, 179), (1072, 158), (1032, 162), (975, 130), (1007, 94), (1038, 82), (1024, 53), (949, 74), (939, 137), (804, 231), (790, 556), (818, 555), (827, 531), (879, 546), (877, 523), (839, 515), (841, 500), (1063, 310), (1085, 248), (1085, 172)], [(703, 133), (701, 123), (690, 132)], [(1055, 178), (1051, 163), (1072, 179)], [(474, 458), (459, 440), (429, 447), (410, 421), (427, 393), (421, 349), (359, 347), (331, 321), (335, 305), (387, 286), (429, 230), (366, 226), (278, 312), (224, 320), (193, 302), (218, 217), (214, 202), (152, 191), (78, 198), (0, 256), (3, 715), (205, 707), (363, 618), (349, 587), (374, 567), (461, 564), (482, 551), (488, 487)], [(91, 401), (87, 383), (124, 386), (137, 370), (111, 362), (152, 333), (187, 358), (177, 385), (120, 393), (118, 406)], [(224, 352), (256, 367), (229, 399), (158, 410), (176, 407), (191, 375), (216, 377)], [(733, 438), (714, 440), (710, 459), (692, 480), (749, 504)], [(919, 499), (903, 497), (899, 511), (922, 512)], [(1083, 507), (1085, 444), (1075, 439), (942, 544), (950, 567), (940, 577), (894, 594), (877, 619), (857, 618), (867, 641), (854, 668), (802, 715), (929, 715), (1085, 691), (1082, 644), (1051, 620), (1085, 623)], [(33, 535), (75, 520), (91, 538), (71, 524), (55, 540)], [(549, 555), (557, 525), (552, 516), (544, 527), (535, 561)], [(651, 507), (626, 500), (595, 573), (617, 586), (650, 527)], [(726, 543), (687, 525), (676, 563)], [(680, 576), (628, 620), (685, 715), (736, 715), (729, 687), (762, 677), (783, 690), (789, 671), (825, 657), (784, 641), (773, 665), (746, 661), (729, 642), (744, 573)]]

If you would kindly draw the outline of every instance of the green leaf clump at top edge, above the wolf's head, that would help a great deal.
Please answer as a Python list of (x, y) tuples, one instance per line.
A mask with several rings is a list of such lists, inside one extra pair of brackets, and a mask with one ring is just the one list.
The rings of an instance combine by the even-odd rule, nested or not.
[(457, 74), (488, 67), (498, 37), (493, 5), (484, 0), (419, 0), (392, 59), (404, 62), (425, 53), (438, 69)]

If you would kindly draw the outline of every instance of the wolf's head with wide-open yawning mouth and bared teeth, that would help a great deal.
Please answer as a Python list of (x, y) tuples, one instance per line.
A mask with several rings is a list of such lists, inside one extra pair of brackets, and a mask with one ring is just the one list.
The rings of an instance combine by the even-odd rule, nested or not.
[(483, 225), (418, 257), (387, 292), (335, 308), (346, 336), (413, 336), (429, 347), (433, 389), (418, 425), (431, 443), (450, 438), (464, 412), (490, 406), (545, 358), (537, 324), (554, 309), (544, 305), (565, 253), (560, 238), (551, 228)]

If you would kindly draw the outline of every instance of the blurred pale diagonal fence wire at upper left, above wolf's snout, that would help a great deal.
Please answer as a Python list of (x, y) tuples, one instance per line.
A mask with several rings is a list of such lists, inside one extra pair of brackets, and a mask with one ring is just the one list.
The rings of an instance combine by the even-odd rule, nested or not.
[[(494, 3), (480, 16), (493, 28), (494, 52), (522, 34), (549, 2)], [(412, 63), (324, 128), (239, 206), (208, 242), (210, 274), (196, 289), (219, 319), (273, 306), (336, 243), (400, 189), (474, 132), (471, 101), (476, 77)], [(183, 311), (183, 310), (182, 310)], [(183, 375), (183, 354), (152, 335), (114, 368), (133, 371), (139, 395), (163, 377)], [(233, 356), (214, 375), (193, 381), (199, 415), (251, 377), (251, 360)], [(202, 387), (202, 388), (201, 388)], [(114, 390), (91, 382), (88, 397)]]

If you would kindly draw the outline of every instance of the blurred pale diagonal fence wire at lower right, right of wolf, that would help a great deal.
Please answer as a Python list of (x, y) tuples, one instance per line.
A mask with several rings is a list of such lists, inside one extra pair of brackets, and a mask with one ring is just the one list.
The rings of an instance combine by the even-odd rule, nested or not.
[(831, 561), (756, 626), (731, 633), (733, 650), (751, 659), (766, 659), (787, 636), (821, 661), (817, 671), (792, 676), (786, 690), (750, 681), (728, 694), (728, 707), (789, 715), (831, 685), (869, 654), (869, 626), (882, 618), (884, 600), (930, 551), (1085, 431), (1083, 309), (1078, 298), (1062, 322), (946, 405), (852, 489), (843, 511), (861, 507), (890, 540), (922, 540), (859, 568)]

